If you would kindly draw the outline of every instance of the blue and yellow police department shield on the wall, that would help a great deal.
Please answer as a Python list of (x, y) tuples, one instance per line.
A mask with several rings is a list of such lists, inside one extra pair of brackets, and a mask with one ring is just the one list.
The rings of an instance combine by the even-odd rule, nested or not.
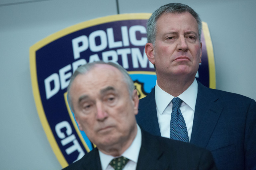
[[(82, 64), (103, 60), (129, 72), (140, 98), (156, 82), (154, 66), (144, 52), (146, 21), (151, 14), (123, 14), (85, 21), (60, 30), (30, 48), (30, 69), (37, 111), (47, 139), (62, 167), (95, 146), (80, 131), (67, 103), (69, 78)], [(197, 78), (215, 88), (213, 47), (207, 24), (201, 38), (202, 64)]]

